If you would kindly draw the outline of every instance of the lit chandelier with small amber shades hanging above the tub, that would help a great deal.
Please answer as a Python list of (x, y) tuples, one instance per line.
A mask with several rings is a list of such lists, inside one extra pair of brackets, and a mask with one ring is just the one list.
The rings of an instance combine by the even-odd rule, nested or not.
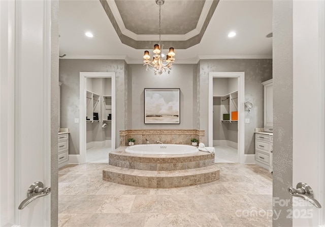
[(150, 61), (150, 55), (149, 55), (149, 51), (145, 51), (143, 58), (145, 59), (143, 62), (143, 65), (147, 66), (147, 71), (148, 69), (150, 69), (150, 67), (153, 68), (154, 74), (156, 75), (158, 74), (162, 74), (163, 72), (168, 72), (168, 74), (171, 73), (171, 69), (172, 69), (172, 63), (175, 61), (175, 52), (174, 52), (174, 48), (171, 47), (169, 48), (169, 52), (167, 54), (166, 60), (163, 60), (163, 58), (161, 57), (161, 51), (163, 50), (164, 45), (161, 47), (161, 40), (160, 40), (160, 36), (161, 36), (161, 19), (160, 19), (160, 7), (162, 5), (164, 5), (165, 0), (156, 0), (156, 4), (159, 5), (159, 44), (155, 44), (154, 48), (153, 48), (153, 58), (152, 61)]

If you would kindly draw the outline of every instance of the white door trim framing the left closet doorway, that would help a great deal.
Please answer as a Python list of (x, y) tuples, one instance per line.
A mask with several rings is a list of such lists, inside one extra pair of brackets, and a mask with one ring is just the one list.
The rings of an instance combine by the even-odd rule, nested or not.
[[(86, 78), (111, 78), (112, 79), (112, 150), (115, 149), (116, 123), (115, 123), (115, 72), (80, 72), (80, 155), (74, 157), (74, 162), (86, 162)], [(70, 158), (70, 156), (69, 156)]]

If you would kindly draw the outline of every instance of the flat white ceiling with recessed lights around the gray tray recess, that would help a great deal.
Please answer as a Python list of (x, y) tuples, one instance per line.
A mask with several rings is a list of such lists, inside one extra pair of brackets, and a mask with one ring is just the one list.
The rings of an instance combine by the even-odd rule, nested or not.
[[(163, 13), (164, 5), (161, 6)], [(177, 14), (176, 9), (174, 13)], [(121, 43), (99, 0), (60, 0), (59, 23), (59, 55), (66, 54), (64, 58), (125, 59), (129, 64), (143, 62), (144, 50)], [(158, 29), (150, 18), (143, 20), (142, 26)], [(94, 36), (85, 36), (87, 31)], [(229, 38), (230, 31), (237, 35)], [(221, 0), (200, 44), (185, 50), (175, 48), (175, 63), (197, 63), (199, 59), (272, 58), (272, 38), (266, 37), (270, 32), (272, 1)]]

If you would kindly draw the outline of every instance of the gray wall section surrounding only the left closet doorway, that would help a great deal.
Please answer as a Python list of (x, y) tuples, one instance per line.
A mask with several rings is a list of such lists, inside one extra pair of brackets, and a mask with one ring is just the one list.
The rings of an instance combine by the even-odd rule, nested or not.
[[(79, 154), (79, 124), (74, 123), (79, 118), (79, 81), (80, 72), (115, 72), (116, 94), (116, 139), (119, 144), (119, 130), (125, 129), (127, 114), (127, 81), (126, 63), (124, 60), (85, 60), (60, 59), (59, 81), (61, 85), (61, 128), (69, 128), (69, 154)], [(82, 121), (82, 119), (80, 119)]]

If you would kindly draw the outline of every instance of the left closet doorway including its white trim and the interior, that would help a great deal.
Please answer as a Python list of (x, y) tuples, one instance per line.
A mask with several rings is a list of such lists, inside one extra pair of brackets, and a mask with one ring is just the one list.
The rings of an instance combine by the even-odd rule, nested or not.
[(108, 163), (115, 149), (115, 72), (80, 72), (80, 163)]

